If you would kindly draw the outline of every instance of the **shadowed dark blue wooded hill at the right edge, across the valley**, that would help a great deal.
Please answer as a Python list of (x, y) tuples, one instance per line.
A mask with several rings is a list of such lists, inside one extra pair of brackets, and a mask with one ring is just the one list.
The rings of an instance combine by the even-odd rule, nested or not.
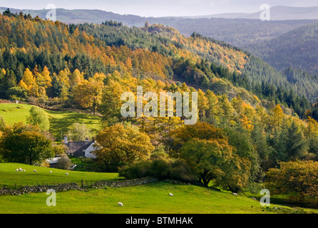
[(278, 70), (291, 66), (318, 75), (318, 23), (296, 28), (245, 49)]

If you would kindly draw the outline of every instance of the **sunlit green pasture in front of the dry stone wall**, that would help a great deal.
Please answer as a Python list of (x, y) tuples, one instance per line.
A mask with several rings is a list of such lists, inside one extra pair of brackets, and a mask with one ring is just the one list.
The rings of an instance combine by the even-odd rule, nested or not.
[[(169, 192), (174, 196), (170, 197)], [(46, 205), (46, 193), (0, 196), (0, 213), (43, 214), (260, 214), (259, 202), (204, 187), (156, 182), (134, 187), (108, 187), (87, 192), (56, 192), (56, 207)], [(117, 203), (123, 202), (124, 207)]]

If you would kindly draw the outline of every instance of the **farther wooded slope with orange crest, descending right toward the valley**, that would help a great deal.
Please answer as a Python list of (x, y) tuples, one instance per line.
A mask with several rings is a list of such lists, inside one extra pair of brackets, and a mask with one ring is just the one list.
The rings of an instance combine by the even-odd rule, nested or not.
[[(193, 33), (192, 36), (186, 38), (174, 28), (158, 24), (141, 29), (122, 25), (99, 26), (93, 24), (74, 25), (74, 28), (92, 34), (109, 46), (125, 45), (129, 48), (145, 48), (157, 51), (163, 56), (173, 56), (173, 66), (171, 66), (173, 77), (168, 78), (181, 83), (185, 82), (195, 88), (209, 88), (215, 93), (227, 93), (229, 96), (232, 96), (231, 93), (239, 93), (252, 102), (250, 98), (247, 98), (248, 96), (242, 95), (242, 90), (238, 89), (244, 88), (259, 98), (275, 100), (275, 102), (287, 106), (292, 105), (300, 116), (302, 116), (302, 111), (299, 109), (304, 107), (310, 109), (308, 101), (301, 97), (304, 96), (310, 100), (317, 97), (316, 82), (308, 83), (307, 78), (299, 78), (297, 82), (289, 81), (284, 73), (277, 71), (260, 58), (228, 43), (207, 38), (198, 33)], [(185, 58), (186, 61), (178, 62), (180, 57)], [(197, 63), (194, 65), (191, 59), (195, 59)], [(186, 68), (188, 68), (187, 73), (185, 73)], [(197, 73), (194, 78), (189, 73), (190, 68), (193, 69), (193, 74)], [(214, 76), (221, 78), (222, 82), (213, 82)], [(210, 86), (207, 86), (209, 84), (207, 81), (210, 81)], [(227, 85), (227, 81), (230, 81), (232, 85)], [(220, 83), (224, 84), (221, 86)], [(290, 90), (299, 95), (299, 98), (288, 98), (287, 100), (287, 93)], [(302, 100), (302, 108), (297, 106), (294, 99)]]

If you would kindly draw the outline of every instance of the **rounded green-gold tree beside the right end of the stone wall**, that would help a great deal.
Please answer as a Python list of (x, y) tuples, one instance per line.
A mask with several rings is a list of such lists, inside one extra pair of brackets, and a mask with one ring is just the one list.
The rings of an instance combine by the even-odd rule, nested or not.
[(214, 185), (229, 188), (233, 192), (247, 184), (250, 162), (235, 155), (226, 140), (188, 140), (180, 149), (180, 157), (198, 174), (207, 187)]

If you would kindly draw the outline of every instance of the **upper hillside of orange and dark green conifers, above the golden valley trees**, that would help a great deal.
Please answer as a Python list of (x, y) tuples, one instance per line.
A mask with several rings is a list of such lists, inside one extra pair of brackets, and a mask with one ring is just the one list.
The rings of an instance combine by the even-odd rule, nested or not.
[[(39, 91), (45, 89), (42, 99), (58, 97), (65, 101), (72, 98), (72, 86), (99, 77), (97, 72), (103, 76), (131, 73), (134, 78), (187, 83), (194, 88), (227, 93), (230, 98), (245, 93), (250, 103), (254, 98), (249, 93), (255, 93), (294, 108), (301, 117), (306, 110), (313, 109), (306, 100), (307, 88), (302, 81), (294, 85), (287, 76), (250, 53), (198, 33), (187, 38), (175, 28), (163, 25), (130, 28), (114, 21), (68, 26), (11, 13), (1, 16), (1, 24), (0, 59), (6, 59), (0, 62), (0, 81), (6, 81), (2, 91), (20, 83), (29, 95), (39, 96)], [(42, 85), (39, 81), (36, 91), (28, 77), (39, 73), (42, 76), (41, 71), (48, 81)], [(48, 85), (52, 86), (47, 88)], [(276, 93), (278, 89), (281, 94)], [(287, 98), (291, 90), (294, 95)], [(2, 93), (2, 97), (9, 98), (8, 93)], [(68, 101), (68, 107), (76, 106), (74, 100)], [(295, 105), (299, 102), (303, 105)], [(82, 105), (96, 108), (93, 103)]]

